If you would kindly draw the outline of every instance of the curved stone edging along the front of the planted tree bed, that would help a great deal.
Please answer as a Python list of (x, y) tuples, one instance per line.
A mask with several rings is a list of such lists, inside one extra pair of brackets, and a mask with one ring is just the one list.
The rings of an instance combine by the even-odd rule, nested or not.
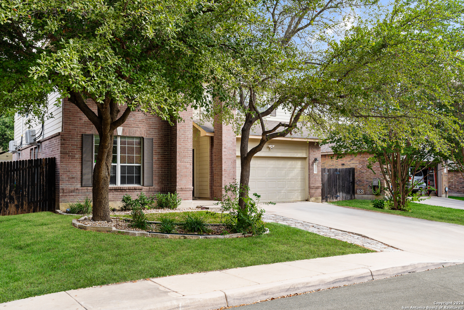
[[(82, 214), (74, 214), (74, 215), (82, 215)], [(87, 219), (88, 216), (84, 216), (79, 218), (79, 220)], [(114, 218), (114, 217), (111, 217)], [(252, 236), (251, 234), (229, 234), (229, 235), (195, 235), (195, 234), (165, 234), (162, 232), (148, 232), (148, 231), (129, 231), (123, 229), (116, 229), (113, 226), (92, 226), (81, 224), (77, 222), (77, 219), (72, 219), (72, 225), (76, 228), (87, 230), (87, 231), (106, 231), (106, 232), (113, 232), (119, 233), (122, 235), (128, 236), (137, 236), (137, 237), (156, 237), (156, 238), (168, 238), (168, 239), (223, 239), (223, 238), (236, 238), (236, 237), (249, 237)], [(265, 234), (269, 233), (269, 229), (266, 228)]]

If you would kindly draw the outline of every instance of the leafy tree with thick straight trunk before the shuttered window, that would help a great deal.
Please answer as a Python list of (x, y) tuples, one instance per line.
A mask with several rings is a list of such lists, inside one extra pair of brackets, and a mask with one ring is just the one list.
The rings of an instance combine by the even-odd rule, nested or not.
[[(100, 136), (93, 218), (110, 220), (114, 130), (139, 110), (176, 122), (204, 85), (225, 78), (224, 46), (249, 3), (174, 0), (0, 0), (0, 112), (39, 119), (57, 91)], [(57, 102), (57, 105), (59, 103)]]

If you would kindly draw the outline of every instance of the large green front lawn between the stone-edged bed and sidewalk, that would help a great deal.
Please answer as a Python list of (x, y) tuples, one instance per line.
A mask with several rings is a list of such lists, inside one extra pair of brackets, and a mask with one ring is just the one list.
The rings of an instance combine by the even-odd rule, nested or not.
[[(159, 239), (84, 231), (72, 216), (0, 217), (0, 303), (148, 277), (371, 252), (269, 223), (271, 233), (231, 239)], [(78, 216), (76, 218), (79, 218)]]

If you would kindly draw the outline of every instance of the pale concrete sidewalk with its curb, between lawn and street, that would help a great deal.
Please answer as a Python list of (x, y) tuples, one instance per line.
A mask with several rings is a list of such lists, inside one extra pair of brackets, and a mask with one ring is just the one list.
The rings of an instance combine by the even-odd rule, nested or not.
[(405, 251), (350, 254), (68, 290), (2, 310), (210, 310), (461, 264)]

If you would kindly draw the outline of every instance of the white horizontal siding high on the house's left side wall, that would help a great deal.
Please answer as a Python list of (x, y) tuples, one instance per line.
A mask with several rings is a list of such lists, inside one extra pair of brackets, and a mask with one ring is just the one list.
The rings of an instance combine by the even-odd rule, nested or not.
[[(51, 93), (48, 95), (48, 113), (45, 117), (45, 124), (44, 124), (44, 134), (40, 137), (40, 139), (46, 138), (51, 136), (54, 133), (61, 132), (61, 125), (62, 125), (62, 106), (55, 106), (56, 99), (58, 98), (58, 93)], [(47, 117), (52, 116), (50, 119), (46, 119)], [(15, 114), (14, 116), (14, 139), (18, 141), (18, 144), (21, 141), (21, 135), (26, 132), (28, 129), (35, 129), (37, 135), (40, 134), (42, 131), (42, 124), (39, 122), (32, 123), (31, 127), (27, 127), (26, 125), (27, 118), (18, 116)], [(24, 139), (24, 137), (23, 137)], [(23, 140), (23, 146), (24, 146)]]

